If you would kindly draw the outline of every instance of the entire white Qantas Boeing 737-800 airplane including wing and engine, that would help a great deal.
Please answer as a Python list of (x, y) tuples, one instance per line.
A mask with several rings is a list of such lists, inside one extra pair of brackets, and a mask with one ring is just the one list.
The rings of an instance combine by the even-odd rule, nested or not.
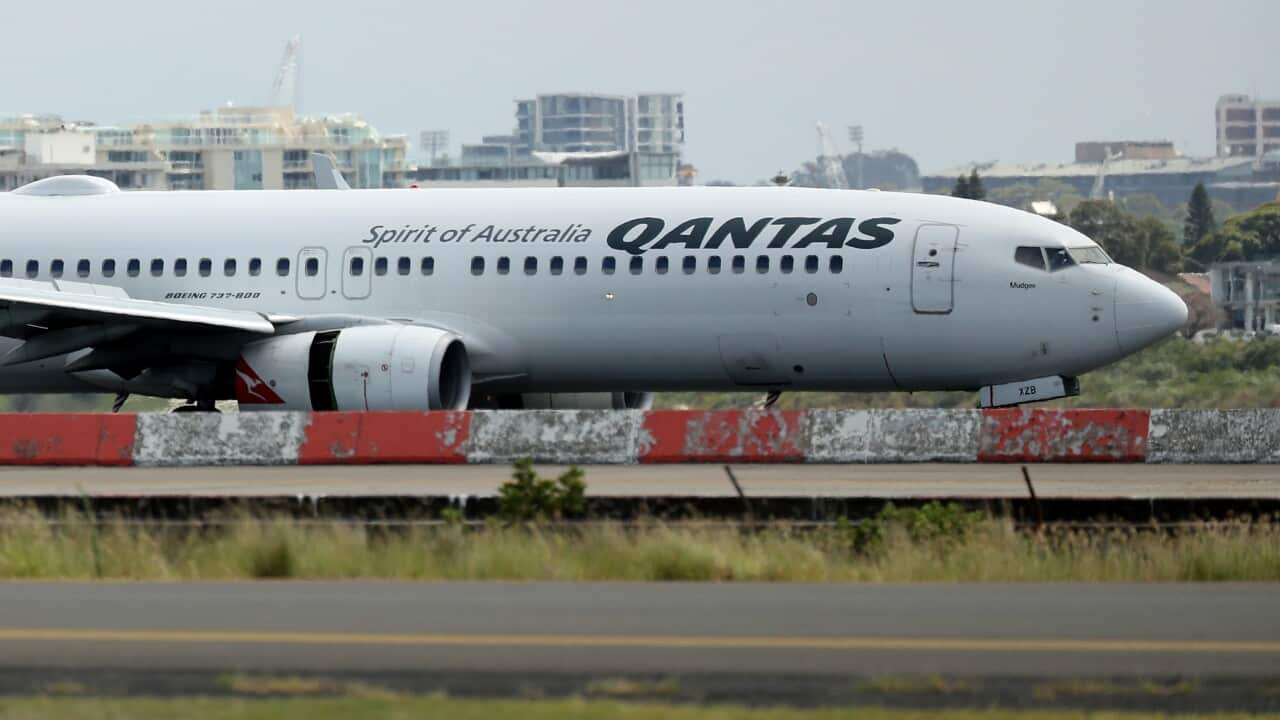
[(1179, 329), (1079, 232), (945, 196), (795, 187), (0, 193), (0, 392), (180, 411), (636, 409), (659, 391), (977, 391)]

